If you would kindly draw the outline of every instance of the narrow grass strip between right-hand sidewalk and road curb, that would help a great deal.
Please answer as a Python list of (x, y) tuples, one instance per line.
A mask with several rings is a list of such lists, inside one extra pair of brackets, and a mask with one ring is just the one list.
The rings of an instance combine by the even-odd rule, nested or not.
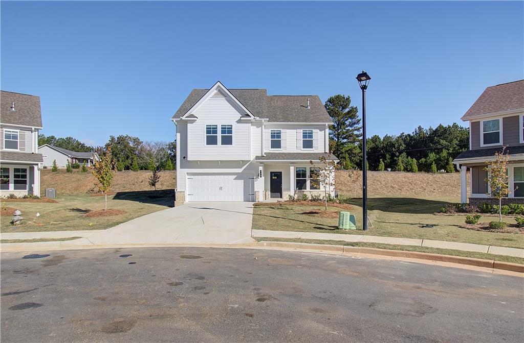
[(344, 245), (344, 246), (361, 247), (361, 248), (417, 251), (418, 253), (430, 253), (430, 254), (480, 258), (480, 259), (486, 259), (486, 260), (495, 260), (495, 261), (500, 261), (500, 262), (510, 262), (510, 263), (517, 263), (517, 264), (524, 265), (524, 258), (521, 258), (521, 257), (477, 253), (475, 251), (463, 251), (463, 250), (454, 250), (454, 249), (422, 247), (422, 246), (414, 246), (414, 245), (394, 245), (394, 244), (366, 243), (366, 242), (345, 242), (345, 241), (332, 241), (328, 239), (302, 239), (302, 238), (254, 237), (254, 239), (256, 239), (257, 242), (334, 244), (334, 245)]

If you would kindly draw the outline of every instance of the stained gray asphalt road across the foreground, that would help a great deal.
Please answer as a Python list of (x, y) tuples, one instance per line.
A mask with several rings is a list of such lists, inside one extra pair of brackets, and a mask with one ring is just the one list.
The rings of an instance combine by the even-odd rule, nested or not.
[(524, 342), (520, 277), (261, 249), (40, 254), (2, 254), (2, 343)]

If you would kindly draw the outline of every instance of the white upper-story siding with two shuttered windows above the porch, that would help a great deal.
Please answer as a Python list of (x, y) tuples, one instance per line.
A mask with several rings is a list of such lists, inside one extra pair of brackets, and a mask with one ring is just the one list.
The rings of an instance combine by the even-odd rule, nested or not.
[[(281, 131), (281, 148), (271, 149), (271, 130)], [(302, 130), (313, 130), (313, 149), (302, 149)], [(267, 152), (324, 152), (325, 125), (285, 125), (266, 124), (264, 132), (264, 151)]]

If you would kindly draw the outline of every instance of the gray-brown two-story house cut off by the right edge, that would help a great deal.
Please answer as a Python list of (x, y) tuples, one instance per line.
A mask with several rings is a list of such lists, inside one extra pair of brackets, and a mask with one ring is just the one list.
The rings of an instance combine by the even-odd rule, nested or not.
[[(524, 203), (524, 80), (487, 87), (462, 117), (470, 122), (470, 150), (453, 161), (461, 170), (461, 202), (495, 202), (490, 198), (484, 170), (505, 146), (510, 155), (508, 183), (511, 193), (504, 203)], [(471, 171), (471, 193), (466, 191), (466, 171)]]

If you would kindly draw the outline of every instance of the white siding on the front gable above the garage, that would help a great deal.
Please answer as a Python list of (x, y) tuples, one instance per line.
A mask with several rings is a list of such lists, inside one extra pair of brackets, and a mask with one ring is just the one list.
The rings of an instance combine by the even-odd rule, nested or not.
[[(188, 159), (190, 161), (231, 161), (251, 159), (251, 122), (231, 99), (217, 91), (193, 113), (198, 119), (188, 123)], [(218, 145), (205, 145), (205, 125), (215, 124)], [(220, 145), (220, 125), (233, 125), (233, 145)]]

